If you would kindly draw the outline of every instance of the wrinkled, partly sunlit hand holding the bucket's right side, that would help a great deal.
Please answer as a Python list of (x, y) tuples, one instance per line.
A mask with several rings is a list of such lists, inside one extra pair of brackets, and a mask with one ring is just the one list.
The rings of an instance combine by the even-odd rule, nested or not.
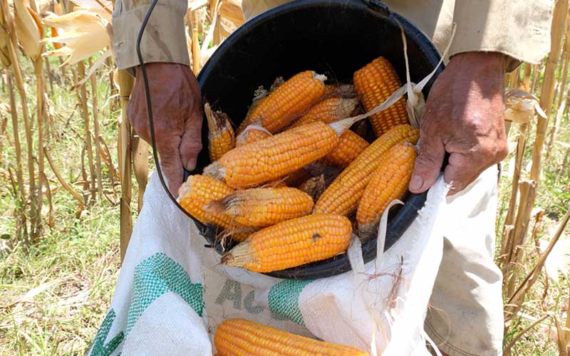
[(450, 194), (465, 189), (487, 167), (507, 155), (504, 132), (504, 56), (468, 52), (453, 56), (435, 80), (420, 125), (420, 150), (410, 192), (437, 180), (445, 152)]

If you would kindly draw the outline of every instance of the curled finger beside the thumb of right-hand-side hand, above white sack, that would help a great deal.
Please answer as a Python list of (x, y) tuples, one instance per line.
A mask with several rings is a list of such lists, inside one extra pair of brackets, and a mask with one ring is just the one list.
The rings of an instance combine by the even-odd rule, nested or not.
[(443, 173), (445, 182), (451, 184), (448, 195), (461, 192), (479, 176), (482, 169), (476, 161), (472, 155), (455, 152), (450, 155), (449, 163)]

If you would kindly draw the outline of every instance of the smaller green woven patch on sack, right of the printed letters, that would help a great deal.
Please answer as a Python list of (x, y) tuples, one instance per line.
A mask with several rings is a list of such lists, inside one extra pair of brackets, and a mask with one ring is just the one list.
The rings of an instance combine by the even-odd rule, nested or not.
[(269, 290), (269, 310), (294, 323), (305, 326), (305, 320), (299, 309), (299, 295), (312, 279), (296, 281), (289, 279), (277, 283)]

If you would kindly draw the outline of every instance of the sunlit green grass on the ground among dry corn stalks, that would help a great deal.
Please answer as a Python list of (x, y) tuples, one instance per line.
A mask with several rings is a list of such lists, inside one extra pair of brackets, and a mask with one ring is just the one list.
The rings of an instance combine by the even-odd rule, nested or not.
[[(47, 147), (63, 177), (76, 191), (83, 193), (81, 151), (84, 145), (83, 118), (77, 107), (75, 92), (71, 86), (71, 70), (66, 69), (65, 85), (61, 82), (59, 61), (51, 58), (51, 68), (56, 74), (54, 91), (50, 93), (50, 112), (56, 132), (50, 132)], [(28, 61), (24, 61), (24, 73), (33, 73)], [(28, 85), (31, 120), (35, 122), (34, 80), (26, 78)], [(98, 72), (99, 105), (103, 107), (110, 96), (108, 72)], [(0, 99), (9, 103), (5, 90)], [(119, 110), (114, 105), (100, 108), (101, 132), (110, 147), (112, 159), (117, 165), (116, 137)], [(17, 105), (19, 113), (21, 109)], [(14, 191), (9, 172), (14, 169), (13, 132), (9, 113), (6, 137), (1, 137), (4, 150), (0, 152), (0, 355), (83, 355), (93, 340), (110, 305), (119, 271), (119, 207), (120, 187), (117, 194), (110, 186), (108, 169), (103, 165), (105, 197), (88, 205), (78, 218), (75, 216), (77, 201), (66, 192), (46, 162), (46, 175), (53, 194), (54, 225), (45, 226), (37, 244), (24, 248), (14, 239), (16, 231)], [(1, 120), (1, 117), (0, 117)], [(35, 126), (35, 123), (34, 123)], [(559, 142), (570, 142), (568, 116), (561, 125)], [(534, 128), (533, 128), (534, 130)], [(511, 135), (516, 135), (513, 128)], [(20, 141), (23, 145), (24, 172), (26, 140), (20, 122)], [(534, 142), (534, 131), (529, 134), (525, 164), (530, 160), (528, 147)], [(35, 143), (36, 145), (36, 143)], [(562, 172), (561, 164), (566, 147), (556, 144), (551, 159), (544, 162), (537, 207), (546, 211), (541, 238), (548, 239), (557, 221), (570, 206), (570, 172)], [(508, 162), (508, 159), (506, 162)], [(152, 169), (152, 166), (151, 166)], [(27, 181), (27, 177), (24, 177)], [(133, 179), (134, 182), (134, 179)], [(502, 178), (499, 192), (499, 216), (497, 232), (502, 231), (502, 221), (507, 214), (510, 195), (510, 179)], [(88, 194), (86, 194), (88, 195)], [(133, 185), (132, 210), (136, 211), (136, 184)], [(47, 201), (43, 202), (46, 216)], [(17, 210), (16, 210), (17, 211)], [(134, 219), (134, 216), (133, 216)], [(497, 241), (498, 244), (499, 241)], [(529, 271), (537, 259), (532, 245), (527, 248), (524, 271)], [(548, 286), (549, 288), (546, 288)], [(34, 289), (38, 288), (38, 289)], [(547, 289), (547, 293), (544, 290)], [(38, 293), (22, 300), (26, 293)], [(541, 276), (532, 289), (522, 313), (529, 318), (539, 318), (544, 313), (556, 315), (564, 323), (568, 305), (568, 281), (561, 276), (554, 286)], [(516, 318), (505, 343), (532, 321)], [(552, 318), (544, 320), (529, 331), (514, 346), (513, 355), (556, 355), (556, 332)]]

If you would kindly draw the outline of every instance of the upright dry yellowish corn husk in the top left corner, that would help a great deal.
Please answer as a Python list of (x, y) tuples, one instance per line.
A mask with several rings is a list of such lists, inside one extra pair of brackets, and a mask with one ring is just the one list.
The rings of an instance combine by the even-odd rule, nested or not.
[(14, 18), (20, 45), (26, 56), (35, 61), (41, 55), (41, 20), (25, 0), (14, 1)]

